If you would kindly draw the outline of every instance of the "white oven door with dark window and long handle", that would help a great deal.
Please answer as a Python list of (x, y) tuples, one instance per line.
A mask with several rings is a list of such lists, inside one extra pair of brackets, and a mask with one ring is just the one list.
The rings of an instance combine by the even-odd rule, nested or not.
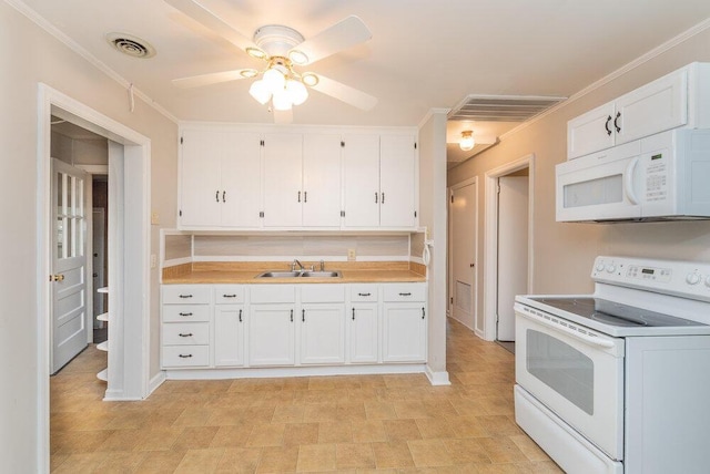
[(612, 460), (623, 458), (623, 339), (516, 302), (516, 382)]

